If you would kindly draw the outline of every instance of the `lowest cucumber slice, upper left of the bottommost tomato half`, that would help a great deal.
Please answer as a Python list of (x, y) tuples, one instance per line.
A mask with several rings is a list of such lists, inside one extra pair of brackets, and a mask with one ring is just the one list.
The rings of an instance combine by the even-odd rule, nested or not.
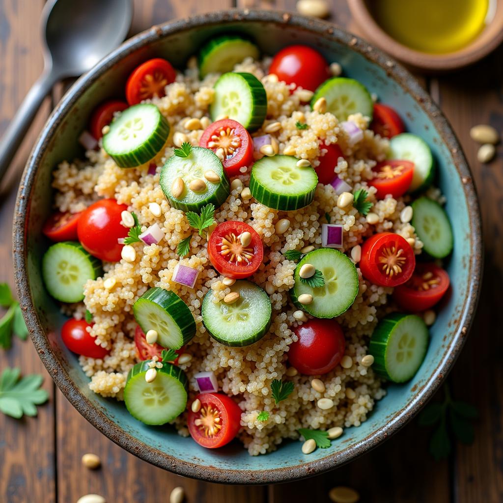
[(152, 382), (145, 381), (151, 360), (137, 363), (127, 376), (124, 402), (129, 413), (146, 425), (164, 425), (187, 406), (188, 380), (176, 365), (163, 363)]

